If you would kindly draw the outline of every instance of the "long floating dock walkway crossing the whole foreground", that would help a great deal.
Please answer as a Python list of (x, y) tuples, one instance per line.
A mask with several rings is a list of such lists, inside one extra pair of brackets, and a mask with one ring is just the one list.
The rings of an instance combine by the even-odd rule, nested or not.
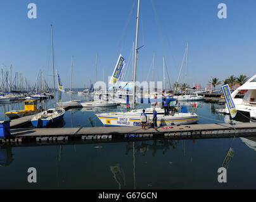
[(193, 124), (172, 126), (172, 128), (141, 127), (93, 127), (93, 128), (23, 128), (11, 129), (11, 137), (6, 141), (101, 141), (120, 138), (154, 138), (166, 137), (173, 139), (189, 138), (227, 138), (248, 137), (256, 135), (256, 122), (231, 124)]

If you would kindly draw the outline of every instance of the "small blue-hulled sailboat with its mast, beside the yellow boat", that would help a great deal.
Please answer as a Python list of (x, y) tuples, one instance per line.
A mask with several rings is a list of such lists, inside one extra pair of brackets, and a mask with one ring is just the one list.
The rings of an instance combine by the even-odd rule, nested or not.
[[(53, 56), (53, 25), (51, 25), (51, 48)], [(30, 120), (32, 125), (36, 128), (51, 126), (63, 119), (65, 114), (65, 109), (62, 107), (56, 108), (56, 98), (55, 98), (55, 78), (54, 78), (54, 57), (53, 57), (53, 91), (54, 91), (54, 108), (48, 109), (39, 114), (35, 114)]]

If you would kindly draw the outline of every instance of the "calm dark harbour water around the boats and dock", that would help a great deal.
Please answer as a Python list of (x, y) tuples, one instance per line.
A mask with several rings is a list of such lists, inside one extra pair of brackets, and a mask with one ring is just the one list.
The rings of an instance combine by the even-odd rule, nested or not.
[[(49, 107), (53, 100), (40, 104)], [(3, 120), (4, 110), (21, 109), (23, 104), (0, 107)], [(224, 122), (224, 116), (215, 114), (219, 107), (198, 102), (199, 123)], [(109, 110), (125, 110), (125, 107)], [(243, 116), (240, 120), (248, 121)], [(77, 126), (102, 124), (93, 110), (67, 111), (63, 127)], [(250, 140), (256, 142), (256, 138)], [(234, 138), (234, 141), (233, 138), (182, 141), (162, 138), (135, 142), (4, 145), (0, 146), (0, 189), (256, 188), (256, 151), (245, 143), (247, 141), (242, 138)], [(228, 163), (227, 183), (221, 184), (217, 181), (217, 170), (230, 146), (234, 156)], [(29, 167), (37, 169), (37, 183), (27, 182)]]

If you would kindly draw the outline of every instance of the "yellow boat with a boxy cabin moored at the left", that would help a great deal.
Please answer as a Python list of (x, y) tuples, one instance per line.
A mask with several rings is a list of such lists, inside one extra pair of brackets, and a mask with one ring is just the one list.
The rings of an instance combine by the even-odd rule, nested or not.
[(39, 109), (37, 109), (37, 100), (24, 100), (23, 110), (10, 110), (5, 114), (10, 119), (16, 119), (23, 116), (29, 116), (31, 114), (34, 114), (35, 112), (39, 112)]

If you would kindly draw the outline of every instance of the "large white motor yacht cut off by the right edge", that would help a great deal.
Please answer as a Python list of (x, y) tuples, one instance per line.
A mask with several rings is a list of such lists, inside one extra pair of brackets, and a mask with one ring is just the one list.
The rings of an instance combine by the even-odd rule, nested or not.
[[(249, 114), (252, 119), (256, 119), (256, 74), (252, 76), (244, 85), (234, 90), (231, 94), (236, 110), (245, 114)], [(243, 98), (235, 98), (241, 90), (248, 90)], [(217, 110), (219, 113), (229, 114), (229, 110), (226, 108)]]

